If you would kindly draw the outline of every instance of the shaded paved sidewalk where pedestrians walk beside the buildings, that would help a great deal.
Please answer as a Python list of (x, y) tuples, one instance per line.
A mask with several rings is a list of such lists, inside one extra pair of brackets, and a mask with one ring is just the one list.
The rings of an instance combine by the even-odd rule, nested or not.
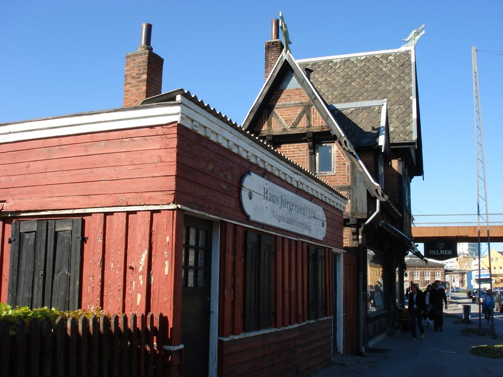
[[(412, 340), (410, 331), (394, 330), (374, 344), (374, 349), (385, 352), (367, 352), (364, 356), (335, 356), (329, 365), (312, 377), (379, 377), (407, 375), (424, 377), (433, 374), (442, 377), (501, 375), (501, 359), (490, 359), (469, 353), (471, 347), (482, 344), (500, 344), (503, 339), (491, 335), (463, 335), (465, 328), (478, 329), (478, 320), (466, 326), (458, 324), (462, 318), (462, 305), (451, 305), (444, 313), (443, 332), (425, 326), (425, 338), (418, 335)], [(473, 321), (472, 321), (473, 322)], [(485, 321), (483, 321), (485, 322)], [(426, 325), (426, 321), (423, 321)], [(485, 324), (483, 323), (482, 326)], [(482, 327), (482, 330), (488, 328)], [(419, 330), (417, 330), (419, 334)]]

